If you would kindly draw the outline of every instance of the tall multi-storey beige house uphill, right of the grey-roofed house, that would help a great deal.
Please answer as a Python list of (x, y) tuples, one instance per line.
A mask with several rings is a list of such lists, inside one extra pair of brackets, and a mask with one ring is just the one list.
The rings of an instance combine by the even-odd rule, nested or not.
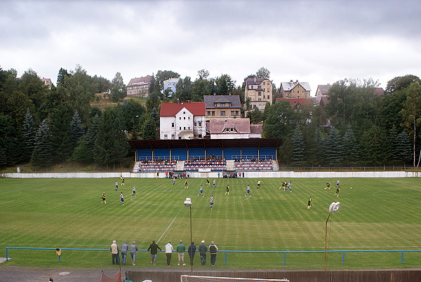
[(272, 82), (269, 79), (246, 79), (244, 92), (246, 99), (250, 98), (252, 109), (257, 107), (260, 111), (263, 111), (267, 102), (272, 104)]

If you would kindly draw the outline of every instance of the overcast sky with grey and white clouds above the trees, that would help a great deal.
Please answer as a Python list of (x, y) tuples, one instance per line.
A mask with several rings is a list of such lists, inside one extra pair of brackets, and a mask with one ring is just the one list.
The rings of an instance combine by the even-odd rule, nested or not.
[(421, 1), (0, 1), (0, 67), (55, 84), (81, 65), (109, 80), (161, 70), (196, 79), (260, 67), (279, 87), (421, 76)]

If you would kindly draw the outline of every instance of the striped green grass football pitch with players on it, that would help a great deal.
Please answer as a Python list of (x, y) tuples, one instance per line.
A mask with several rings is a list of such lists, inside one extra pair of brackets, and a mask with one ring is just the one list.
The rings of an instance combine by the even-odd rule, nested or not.
[[(114, 182), (119, 182), (115, 191)], [(341, 207), (328, 222), (328, 250), (421, 250), (421, 180), (418, 178), (343, 178), (340, 196), (336, 179), (323, 178), (206, 178), (188, 180), (126, 178), (102, 179), (0, 179), (0, 257), (6, 247), (109, 249), (112, 240), (121, 246), (136, 241), (146, 250), (152, 240), (164, 248), (180, 240), (189, 246), (189, 208), (192, 199), (192, 238), (199, 246), (210, 241), (220, 250), (323, 251), (328, 207)], [(291, 192), (279, 189), (291, 181)], [(330, 181), (330, 190), (324, 190)], [(210, 178), (212, 184), (213, 178)], [(225, 187), (229, 184), (229, 196)], [(251, 196), (245, 196), (250, 185)], [(203, 185), (204, 196), (198, 196)], [(136, 196), (132, 196), (132, 187)], [(352, 189), (350, 188), (352, 187)], [(107, 204), (101, 203), (105, 192)], [(124, 206), (119, 204), (123, 192)], [(210, 196), (214, 206), (210, 209)], [(307, 200), (312, 196), (312, 208)], [(25, 267), (112, 267), (107, 250), (10, 250), (7, 264)], [(210, 269), (209, 258), (195, 269)], [(220, 269), (323, 269), (324, 253), (218, 253)], [(177, 266), (174, 253), (171, 267)], [(130, 257), (128, 266), (131, 267)], [(419, 268), (421, 252), (328, 254), (328, 269)], [(138, 252), (136, 267), (152, 267), (149, 252)], [(164, 253), (156, 268), (166, 267)]]

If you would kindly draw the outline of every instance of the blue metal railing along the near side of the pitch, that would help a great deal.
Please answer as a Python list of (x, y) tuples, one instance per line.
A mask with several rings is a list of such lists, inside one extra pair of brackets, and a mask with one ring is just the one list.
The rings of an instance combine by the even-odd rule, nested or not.
[[(6, 247), (6, 261), (9, 258), (9, 250), (56, 250), (56, 248), (24, 248), (24, 247)], [(109, 249), (80, 249), (80, 248), (60, 248), (60, 250), (107, 250)], [(129, 252), (130, 250), (128, 250)], [(149, 252), (149, 250), (138, 250), (139, 252)], [(165, 250), (161, 250), (165, 252)], [(175, 252), (175, 250), (173, 251)], [(403, 264), (403, 253), (405, 252), (421, 252), (421, 250), (328, 250), (327, 253), (342, 253), (342, 264), (345, 264), (345, 253), (375, 253), (375, 252), (389, 252), (401, 253), (401, 264)], [(198, 253), (198, 251), (196, 251)], [(325, 253), (324, 250), (218, 250), (218, 253), (224, 253), (225, 264), (228, 264), (228, 253), (281, 253), (283, 254), (283, 265), (286, 265), (287, 253)], [(61, 255), (58, 255), (58, 262), (61, 260)]]

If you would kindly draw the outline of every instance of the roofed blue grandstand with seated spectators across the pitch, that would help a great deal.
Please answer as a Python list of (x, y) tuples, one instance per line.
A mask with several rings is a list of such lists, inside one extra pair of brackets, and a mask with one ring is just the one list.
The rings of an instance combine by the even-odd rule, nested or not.
[(279, 139), (132, 140), (133, 173), (276, 171)]

